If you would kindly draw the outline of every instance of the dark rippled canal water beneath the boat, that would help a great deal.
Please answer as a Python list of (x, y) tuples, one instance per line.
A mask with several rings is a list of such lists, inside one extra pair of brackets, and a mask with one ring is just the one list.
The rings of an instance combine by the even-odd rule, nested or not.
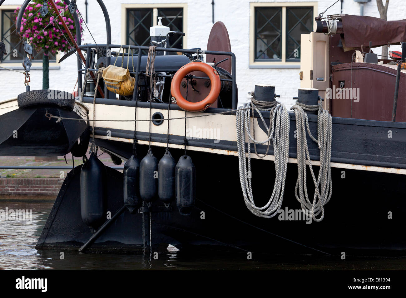
[[(0, 200), (1, 210), (32, 210), (32, 221), (5, 221), (0, 217), (0, 270), (403, 270), (406, 258), (362, 258), (320, 255), (261, 255), (246, 259), (246, 253), (210, 251), (185, 255), (175, 247), (147, 255), (79, 253), (37, 250), (35, 244), (53, 202)], [(1, 215), (1, 214), (0, 214)]]

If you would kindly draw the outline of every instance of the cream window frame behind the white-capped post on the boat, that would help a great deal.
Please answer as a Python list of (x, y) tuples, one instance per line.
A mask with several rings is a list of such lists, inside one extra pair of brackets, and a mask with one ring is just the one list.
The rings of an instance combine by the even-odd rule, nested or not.
[(158, 25), (158, 8), (182, 8), (183, 9), (183, 47), (187, 48), (188, 44), (188, 4), (187, 3), (152, 3), (152, 4), (121, 4), (121, 44), (127, 43), (127, 9), (152, 9), (153, 26)]

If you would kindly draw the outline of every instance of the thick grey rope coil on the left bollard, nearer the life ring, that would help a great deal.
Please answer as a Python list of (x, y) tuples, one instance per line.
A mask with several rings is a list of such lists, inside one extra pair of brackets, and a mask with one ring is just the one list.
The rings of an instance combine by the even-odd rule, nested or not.
[[(257, 105), (256, 105), (257, 104)], [(285, 105), (282, 103), (256, 101), (251, 99), (250, 103), (243, 105), (242, 111), (239, 109), (236, 115), (236, 129), (237, 129), (237, 149), (238, 161), (240, 167), (240, 182), (242, 193), (244, 195), (244, 202), (253, 214), (258, 217), (271, 218), (274, 217), (281, 208), (283, 201), (283, 192), (285, 190), (285, 178), (287, 160), (289, 157), (289, 112)], [(250, 123), (250, 109), (257, 111), (259, 117), (268, 131), (268, 138), (265, 141), (257, 141), (255, 137), (251, 136), (251, 123)], [(266, 124), (261, 115), (261, 111), (269, 111), (270, 126)], [(253, 126), (254, 114), (253, 116)], [(245, 155), (245, 135), (248, 135), (250, 142), (248, 142), (248, 159), (246, 161)], [(268, 203), (263, 207), (257, 207), (254, 202), (252, 186), (251, 186), (251, 141), (254, 144), (265, 144), (272, 140), (275, 156), (275, 182), (272, 195)], [(268, 152), (268, 150), (267, 150)], [(258, 155), (258, 154), (257, 154)], [(248, 163), (248, 171), (246, 164)]]

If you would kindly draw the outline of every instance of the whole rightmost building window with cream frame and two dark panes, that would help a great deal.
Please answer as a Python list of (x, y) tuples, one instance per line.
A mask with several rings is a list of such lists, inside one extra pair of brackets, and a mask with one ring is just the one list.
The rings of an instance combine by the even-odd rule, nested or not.
[(299, 67), (300, 35), (313, 30), (317, 2), (250, 5), (250, 67)]

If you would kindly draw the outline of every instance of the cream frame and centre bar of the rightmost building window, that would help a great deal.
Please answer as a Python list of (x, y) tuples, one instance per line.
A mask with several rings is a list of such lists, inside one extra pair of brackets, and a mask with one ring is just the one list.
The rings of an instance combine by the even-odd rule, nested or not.
[[(249, 26), (249, 68), (300, 68), (300, 62), (286, 61), (286, 8), (287, 7), (311, 7), (313, 17), (317, 15), (318, 2), (250, 2), (250, 26)], [(281, 7), (282, 8), (282, 52), (280, 61), (255, 61), (255, 9), (257, 7)]]

